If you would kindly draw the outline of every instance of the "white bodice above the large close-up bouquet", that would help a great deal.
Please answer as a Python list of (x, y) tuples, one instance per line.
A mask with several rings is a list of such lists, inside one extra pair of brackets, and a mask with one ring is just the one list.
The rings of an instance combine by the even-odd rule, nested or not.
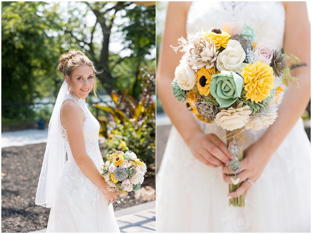
[(240, 19), (255, 31), (256, 42), (266, 42), (279, 50), (283, 47), (285, 9), (281, 2), (193, 2), (188, 11), (186, 30), (222, 29), (223, 21)]

